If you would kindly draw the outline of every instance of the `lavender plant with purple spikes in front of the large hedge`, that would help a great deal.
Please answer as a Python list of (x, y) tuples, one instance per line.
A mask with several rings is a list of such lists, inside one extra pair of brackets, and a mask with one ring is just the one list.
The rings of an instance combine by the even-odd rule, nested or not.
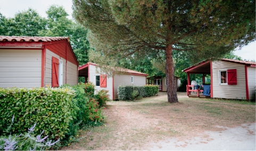
[[(14, 116), (12, 118), (11, 125), (7, 128), (7, 130), (11, 129), (11, 126), (14, 122)], [(48, 136), (42, 138), (44, 134), (44, 130), (40, 135), (35, 137), (36, 123), (34, 126), (28, 129), (28, 132), (25, 134), (20, 134), (18, 136), (12, 135), (10, 132), (9, 136), (0, 136), (0, 150), (46, 150), (50, 147), (53, 147), (56, 143), (60, 141), (48, 140)]]

